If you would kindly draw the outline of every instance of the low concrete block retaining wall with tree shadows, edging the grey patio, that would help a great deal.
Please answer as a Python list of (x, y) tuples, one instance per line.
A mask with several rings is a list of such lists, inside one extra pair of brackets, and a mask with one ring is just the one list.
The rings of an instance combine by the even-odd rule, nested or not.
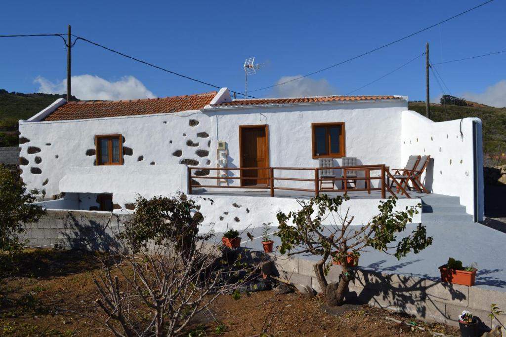
[[(315, 291), (321, 291), (313, 269), (315, 261), (286, 256), (273, 259), (280, 277), (311, 285)], [(332, 265), (327, 281), (338, 282), (341, 271), (341, 266)], [(506, 290), (503, 288), (493, 290), (451, 284), (434, 279), (363, 270), (360, 267), (354, 268), (354, 271), (347, 299), (403, 312), (419, 319), (457, 326), (458, 315), (462, 310), (468, 310), (492, 327), (497, 321), (488, 317), (490, 305), (495, 303), (499, 308), (506, 309)], [(506, 315), (498, 318), (501, 322), (506, 321)]]

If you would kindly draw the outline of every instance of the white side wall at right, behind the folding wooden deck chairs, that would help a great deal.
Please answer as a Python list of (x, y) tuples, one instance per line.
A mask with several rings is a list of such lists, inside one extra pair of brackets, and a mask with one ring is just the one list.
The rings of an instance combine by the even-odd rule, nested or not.
[(414, 111), (402, 113), (402, 163), (410, 155), (431, 155), (425, 175), (426, 187), (434, 193), (460, 197), (467, 213), (474, 214), (473, 121), (479, 122), (478, 192), (479, 220), (484, 217), (483, 154), (481, 120), (464, 118), (435, 123)]

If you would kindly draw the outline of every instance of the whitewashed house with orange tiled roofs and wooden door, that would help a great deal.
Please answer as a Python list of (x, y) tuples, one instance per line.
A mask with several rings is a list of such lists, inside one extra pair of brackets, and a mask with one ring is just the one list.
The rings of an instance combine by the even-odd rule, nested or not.
[[(60, 99), (20, 121), (19, 131), (23, 180), (46, 199), (64, 195), (48, 208), (126, 212), (137, 195), (205, 191), (219, 205), (206, 206), (209, 222), (245, 227), (275, 220), (277, 209), (296, 206), (297, 193), (307, 197), (319, 189), (312, 169), (319, 158), (342, 167), (343, 157), (354, 157), (362, 166), (356, 184), (362, 191), (348, 194), (357, 217), (367, 221), (377, 201), (391, 195), (381, 168), (388, 172), (403, 168), (410, 155), (430, 155), (427, 189), (459, 197), (475, 221), (484, 216), (481, 121), (435, 123), (409, 111), (403, 96), (232, 100), (222, 88), (132, 101)], [(261, 169), (238, 170), (248, 167)], [(367, 186), (376, 190), (369, 194)], [(333, 189), (342, 188), (334, 181)], [(395, 186), (393, 193), (403, 198), (401, 206), (420, 201), (414, 191), (408, 191), (411, 199)], [(233, 219), (223, 214), (232, 204), (240, 212)]]

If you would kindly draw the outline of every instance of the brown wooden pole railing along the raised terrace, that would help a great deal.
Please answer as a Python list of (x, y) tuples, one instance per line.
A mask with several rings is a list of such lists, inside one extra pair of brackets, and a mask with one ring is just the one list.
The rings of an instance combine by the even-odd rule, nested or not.
[[(193, 175), (193, 171), (196, 170), (210, 170), (215, 171), (216, 175)], [(243, 171), (245, 170), (254, 170), (257, 172), (260, 170), (267, 170), (268, 175), (264, 176), (256, 176), (256, 177), (244, 177), (242, 176)], [(321, 170), (342, 170), (342, 177), (320, 177)], [(218, 176), (219, 171), (239, 171), (241, 176), (238, 177), (229, 177), (228, 174), (226, 177)], [(294, 178), (294, 177), (281, 177), (276, 176), (275, 173), (279, 173), (279, 171), (313, 171), (314, 178)], [(357, 171), (364, 172), (364, 176), (357, 177), (347, 177), (347, 172), (349, 171)], [(371, 175), (371, 172), (379, 171), (379, 175)], [(250, 171), (251, 172), (251, 171)], [(358, 174), (357, 174), (358, 175)], [(194, 184), (192, 182), (193, 179), (206, 179), (212, 181), (213, 179), (217, 181), (215, 185), (212, 184)], [(262, 185), (220, 185), (218, 183), (219, 180), (240, 180), (242, 182), (247, 180), (261, 180), (265, 181), (265, 184)], [(378, 187), (372, 187), (371, 181), (379, 180)], [(276, 181), (304, 181), (304, 182), (313, 182), (314, 188), (302, 188), (301, 186), (276, 186)], [(332, 187), (322, 187), (321, 182), (332, 182)], [(334, 188), (335, 181), (341, 181), (342, 188)], [(355, 188), (348, 187), (348, 182), (354, 181)], [(365, 187), (357, 188), (358, 181), (365, 181)], [(393, 183), (391, 183), (391, 181)], [(344, 192), (347, 194), (352, 191), (367, 191), (368, 194), (371, 191), (379, 190), (381, 191), (381, 198), (386, 198), (387, 190), (390, 192), (392, 196), (396, 196), (394, 191), (391, 188), (395, 186), (397, 188), (397, 192), (401, 192), (401, 194), (405, 195), (407, 198), (411, 198), (409, 194), (406, 192), (402, 184), (400, 184), (394, 176), (390, 173), (389, 167), (385, 165), (360, 165), (360, 166), (336, 166), (336, 167), (225, 167), (225, 168), (210, 168), (210, 167), (188, 167), (188, 193), (192, 194), (192, 188), (194, 187), (205, 187), (205, 188), (252, 188), (252, 189), (269, 189), (271, 197), (274, 197), (275, 190), (294, 190), (294, 191), (304, 191), (304, 192), (314, 192), (315, 196), (318, 196), (320, 192)]]

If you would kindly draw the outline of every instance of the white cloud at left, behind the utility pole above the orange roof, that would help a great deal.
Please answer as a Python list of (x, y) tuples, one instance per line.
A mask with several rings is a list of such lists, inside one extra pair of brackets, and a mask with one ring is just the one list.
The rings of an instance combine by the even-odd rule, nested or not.
[[(44, 77), (34, 80), (39, 84), (38, 92), (65, 93), (67, 80), (53, 83)], [(72, 76), (72, 95), (79, 100), (135, 100), (156, 98), (141, 81), (134, 76), (123, 76), (115, 82), (110, 82), (93, 75)]]

